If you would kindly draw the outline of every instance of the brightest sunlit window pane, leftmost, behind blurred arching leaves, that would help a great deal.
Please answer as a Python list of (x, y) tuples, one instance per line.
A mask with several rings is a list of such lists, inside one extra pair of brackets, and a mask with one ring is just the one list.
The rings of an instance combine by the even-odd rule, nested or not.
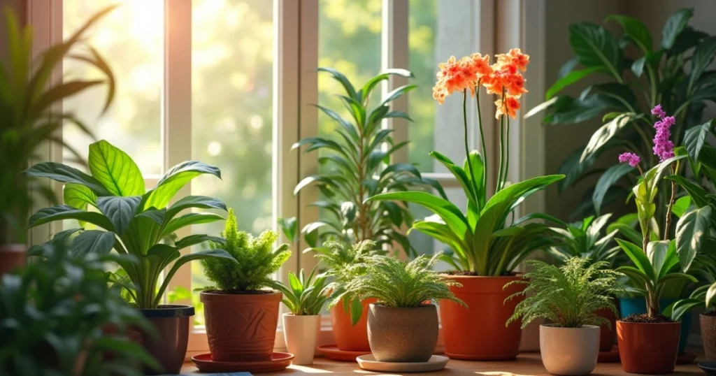
[[(62, 31), (67, 38), (90, 16), (116, 0), (64, 0)], [(106, 87), (96, 87), (64, 101), (95, 133), (125, 150), (146, 175), (162, 173), (160, 138), (163, 79), (163, 1), (125, 0), (90, 29), (88, 41), (112, 67), (117, 92), (110, 110), (100, 111)], [(64, 75), (74, 79), (100, 77), (95, 69), (71, 59), (63, 62)], [(65, 78), (65, 79), (67, 79)], [(64, 127), (63, 138), (87, 156), (92, 140), (76, 127)], [(69, 155), (65, 155), (67, 159)]]

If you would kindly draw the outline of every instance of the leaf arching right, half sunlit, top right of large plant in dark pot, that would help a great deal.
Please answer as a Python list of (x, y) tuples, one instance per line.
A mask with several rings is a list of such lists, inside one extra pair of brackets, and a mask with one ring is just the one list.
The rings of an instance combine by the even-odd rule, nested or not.
[(221, 179), (221, 171), (213, 165), (207, 165), (196, 160), (188, 160), (175, 165), (162, 176), (159, 183), (157, 183), (157, 187), (148, 193), (150, 196), (144, 203), (143, 208), (151, 208), (152, 206), (158, 209), (164, 208), (184, 185), (203, 174), (214, 175)]

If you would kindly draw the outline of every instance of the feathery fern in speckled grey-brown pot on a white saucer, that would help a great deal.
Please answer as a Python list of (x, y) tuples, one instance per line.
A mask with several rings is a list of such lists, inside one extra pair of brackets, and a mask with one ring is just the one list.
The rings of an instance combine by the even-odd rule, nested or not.
[(348, 281), (332, 300), (336, 305), (377, 299), (368, 309), (368, 340), (378, 362), (427, 362), (437, 344), (437, 309), (432, 302), (465, 305), (449, 289), (458, 282), (430, 270), (441, 255), (421, 255), (410, 262), (369, 256), (366, 272)]

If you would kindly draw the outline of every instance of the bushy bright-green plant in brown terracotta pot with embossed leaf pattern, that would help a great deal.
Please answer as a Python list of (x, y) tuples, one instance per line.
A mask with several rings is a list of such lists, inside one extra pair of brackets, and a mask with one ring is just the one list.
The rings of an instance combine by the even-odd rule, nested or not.
[(232, 209), (221, 236), (225, 243), (213, 242), (213, 246), (226, 249), (235, 262), (201, 261), (206, 277), (216, 284), (200, 294), (211, 359), (271, 360), (281, 292), (264, 288), (274, 286), (271, 274), (291, 256), (289, 245), (274, 248), (279, 237), (274, 231), (264, 231), (258, 238), (238, 231)]

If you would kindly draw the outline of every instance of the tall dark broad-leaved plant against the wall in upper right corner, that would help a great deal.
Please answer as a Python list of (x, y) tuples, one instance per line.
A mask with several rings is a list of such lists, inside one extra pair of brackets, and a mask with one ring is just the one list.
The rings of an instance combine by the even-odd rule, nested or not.
[[(624, 202), (629, 196), (626, 186), (634, 176), (624, 165), (606, 170), (594, 166), (602, 154), (615, 148), (627, 148), (639, 155), (651, 155), (651, 139), (656, 117), (649, 109), (661, 104), (676, 117), (672, 128), (674, 143), (687, 141), (687, 132), (700, 125), (705, 103), (716, 100), (716, 70), (708, 70), (716, 52), (716, 37), (689, 26), (693, 9), (680, 9), (667, 19), (662, 39), (654, 46), (649, 29), (639, 19), (611, 15), (605, 22), (621, 26), (615, 37), (603, 26), (580, 22), (569, 26), (569, 43), (574, 57), (560, 69), (557, 81), (547, 90), (546, 102), (534, 107), (527, 117), (546, 110), (547, 125), (580, 124), (604, 114), (604, 125), (581, 145), (558, 168), (566, 178), (559, 184), (564, 192), (582, 178), (601, 174), (593, 191), (587, 192), (583, 215), (599, 214), (609, 202)], [(598, 75), (606, 82), (589, 85), (578, 97), (561, 94), (565, 87), (576, 85), (585, 77)], [(639, 100), (637, 100), (639, 98)], [(703, 143), (703, 139), (700, 141)], [(647, 161), (654, 165), (653, 155)], [(683, 173), (681, 175), (684, 177)], [(657, 205), (659, 223), (664, 221), (667, 197)]]

